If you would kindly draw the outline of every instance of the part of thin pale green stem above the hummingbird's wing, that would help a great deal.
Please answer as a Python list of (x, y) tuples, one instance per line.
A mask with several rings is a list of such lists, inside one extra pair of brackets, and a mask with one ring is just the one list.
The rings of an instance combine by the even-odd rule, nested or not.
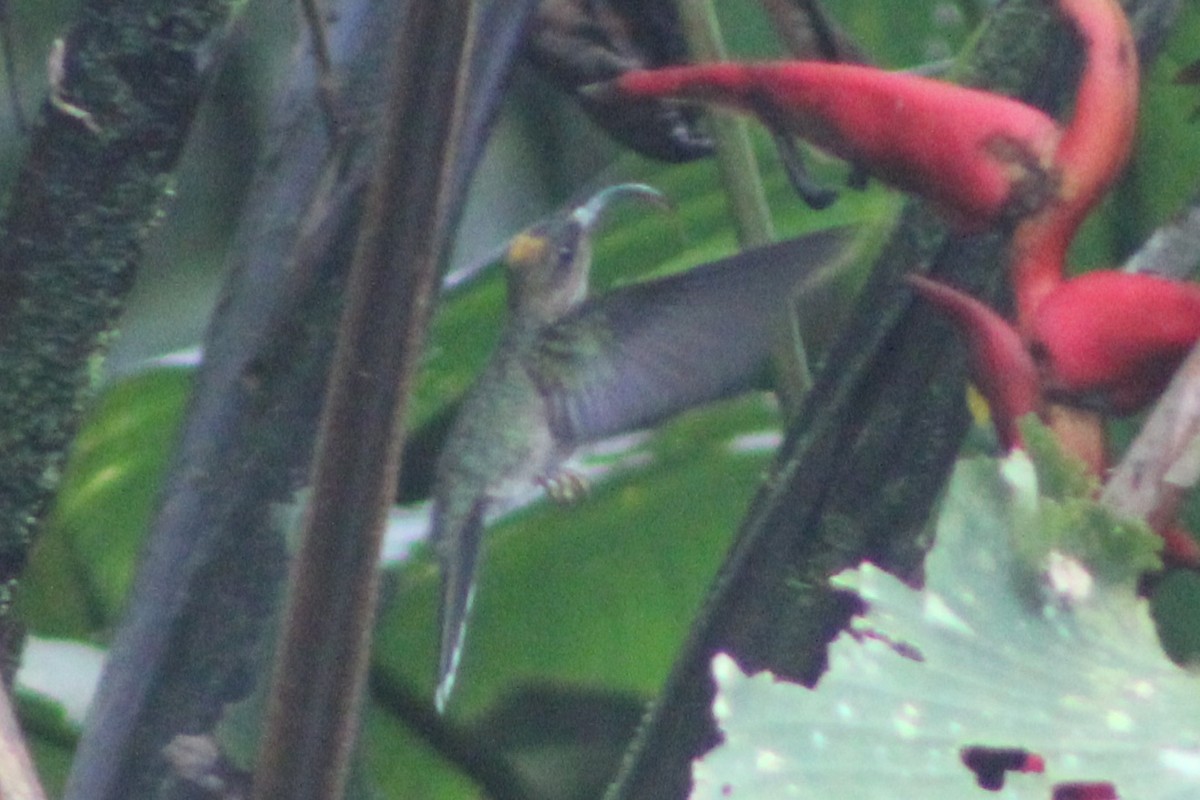
[[(713, 0), (677, 0), (677, 6), (692, 56), (700, 61), (725, 60)], [(754, 247), (774, 241), (767, 193), (745, 121), (730, 114), (709, 112), (708, 125), (716, 145), (716, 166), (730, 198), (738, 242), (743, 247)]]

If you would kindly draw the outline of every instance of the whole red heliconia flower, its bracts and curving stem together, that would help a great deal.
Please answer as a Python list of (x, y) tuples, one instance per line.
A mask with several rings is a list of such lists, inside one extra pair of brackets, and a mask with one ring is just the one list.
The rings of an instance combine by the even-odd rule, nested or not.
[(1043, 395), (1097, 395), (1118, 413), (1140, 408), (1200, 335), (1195, 285), (1118, 272), (1064, 281), (1079, 225), (1129, 158), (1139, 67), (1117, 0), (1052, 2), (1084, 48), (1066, 127), (1008, 97), (860, 65), (680, 66), (626, 72), (613, 86), (756, 114), (926, 198), (960, 231), (1019, 217), (1010, 249), (1015, 329), (960, 291), (911, 278), (968, 337), (973, 378), (1001, 440), (1013, 446), (1016, 419), (1044, 411)]

